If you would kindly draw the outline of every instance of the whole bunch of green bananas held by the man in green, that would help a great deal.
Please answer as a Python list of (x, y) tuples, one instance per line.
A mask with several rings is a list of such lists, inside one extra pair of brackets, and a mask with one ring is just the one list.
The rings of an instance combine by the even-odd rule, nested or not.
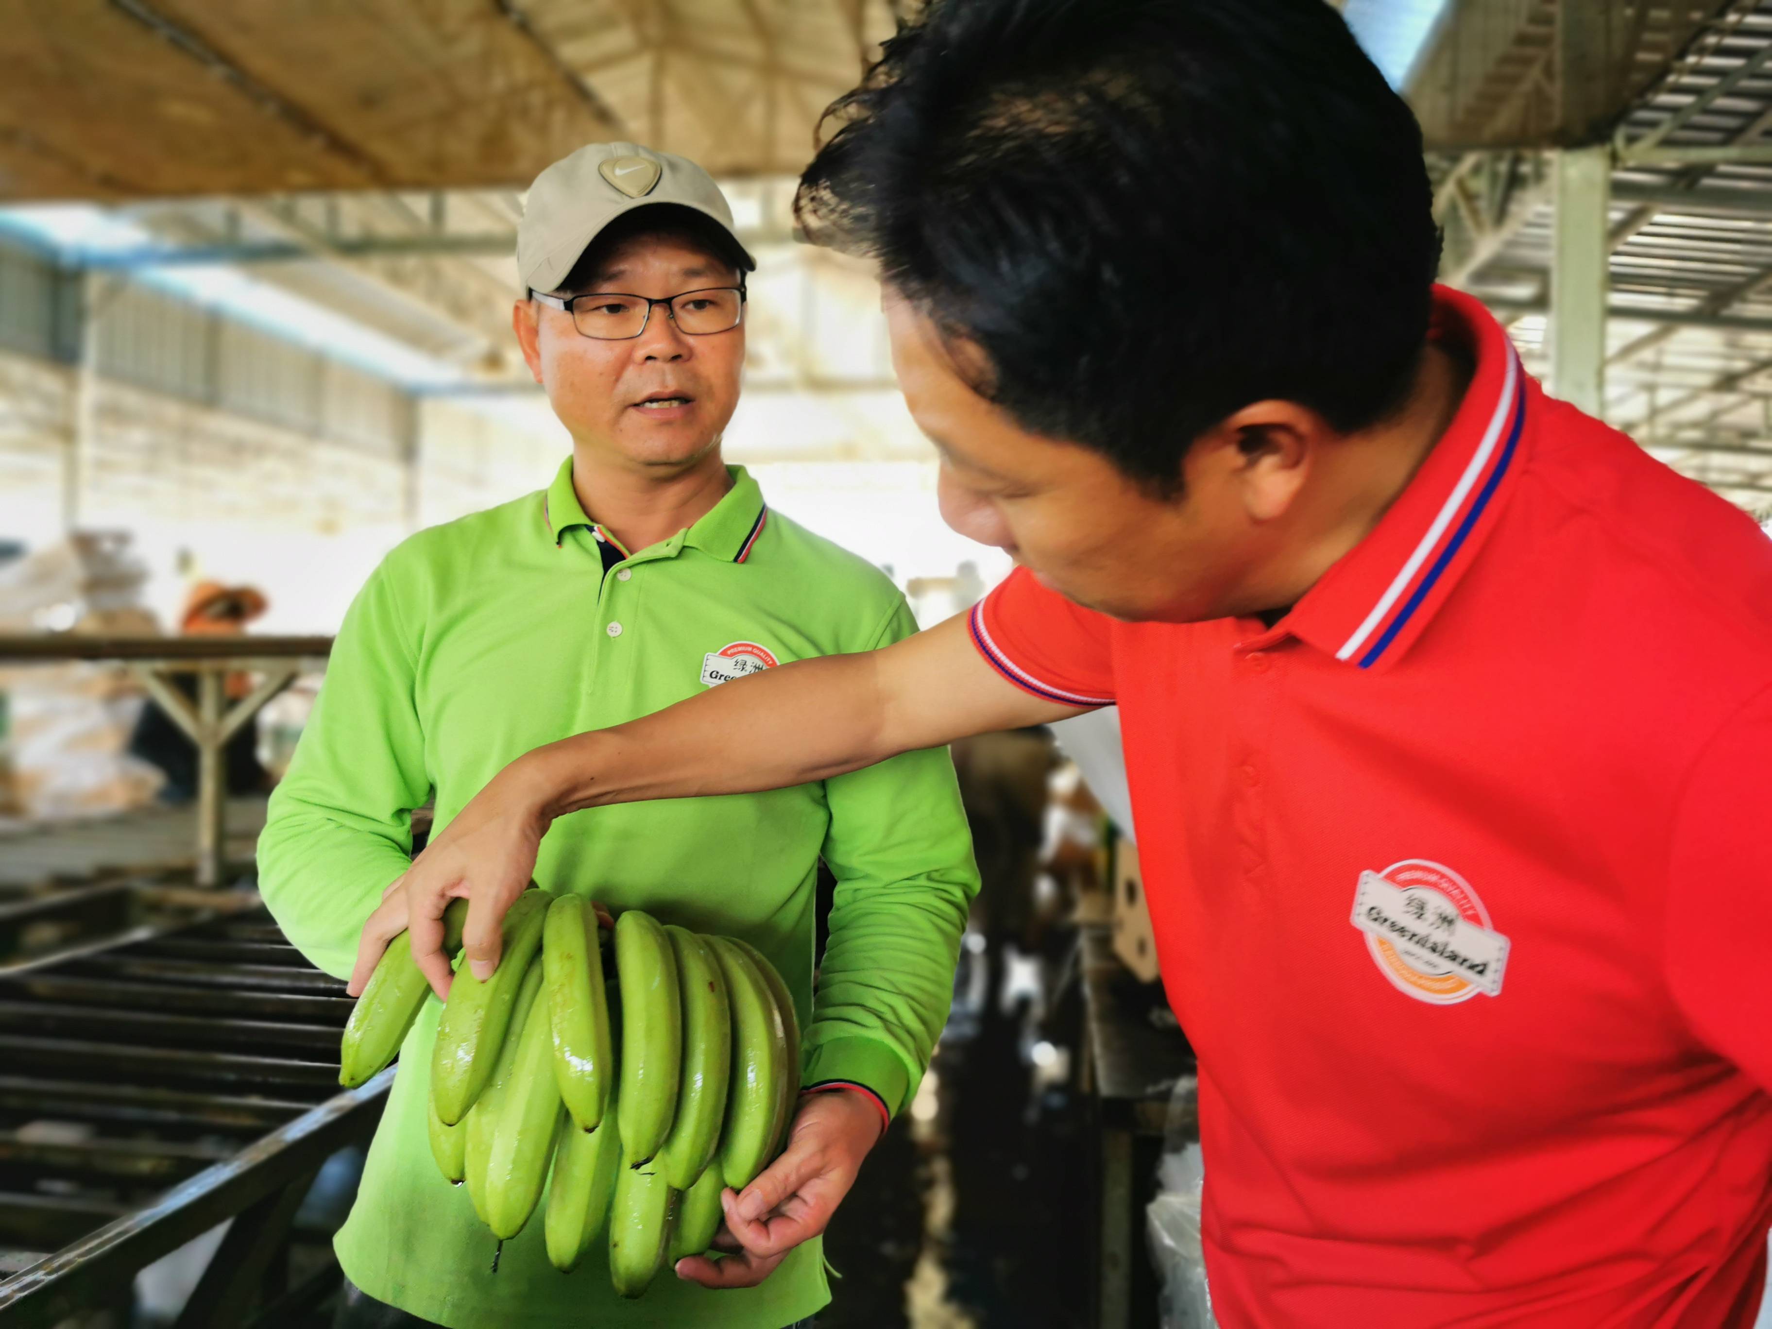
[(610, 1279), (638, 1297), (712, 1246), (723, 1189), (781, 1150), (801, 1035), (750, 943), (629, 909), (610, 953), (613, 976), (583, 898), (525, 891), (494, 975), (455, 975), (427, 1116), (438, 1170), (494, 1237), (546, 1191), (549, 1262), (571, 1272), (608, 1228)]

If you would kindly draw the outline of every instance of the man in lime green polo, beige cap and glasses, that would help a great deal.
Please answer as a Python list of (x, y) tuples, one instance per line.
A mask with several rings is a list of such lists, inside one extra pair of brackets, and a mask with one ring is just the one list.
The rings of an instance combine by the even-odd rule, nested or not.
[[(259, 842), (266, 904), (335, 975), (353, 973), (372, 913), (383, 943), (402, 927), (377, 905), (411, 865), (411, 808), (434, 797), (441, 831), (530, 748), (914, 631), (891, 581), (771, 512), (721, 461), (755, 264), (698, 167), (633, 144), (579, 149), (535, 181), (517, 266), (516, 335), (572, 457), (548, 491), (420, 532), (376, 569)], [(820, 858), (836, 900), (813, 994)], [(842, 1090), (801, 1100), (794, 1177), (822, 1164), (799, 1203), (840, 1198), (948, 1010), (976, 872), (946, 753), (567, 817), (535, 877), (746, 937), (774, 960), (806, 1030), (803, 1084)], [(429, 1152), (439, 1008), (429, 1001), (406, 1040), (337, 1239), (351, 1281), (340, 1325), (781, 1329), (829, 1301), (817, 1239), (785, 1258), (684, 1260), (629, 1302), (597, 1255), (555, 1271), (532, 1221), (493, 1274), (493, 1235)]]

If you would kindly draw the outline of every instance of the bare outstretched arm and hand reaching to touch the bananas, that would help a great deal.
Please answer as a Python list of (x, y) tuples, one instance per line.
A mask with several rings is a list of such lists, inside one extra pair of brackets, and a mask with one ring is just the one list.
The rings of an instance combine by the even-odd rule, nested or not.
[(882, 650), (824, 656), (721, 684), (643, 719), (537, 748), (494, 776), (431, 842), (363, 929), (361, 991), (400, 929), (439, 996), (443, 909), (468, 898), (466, 960), (498, 966), (500, 923), (569, 812), (641, 799), (750, 794), (859, 771), (969, 734), (1081, 714), (1015, 688), (978, 654), (966, 617)]

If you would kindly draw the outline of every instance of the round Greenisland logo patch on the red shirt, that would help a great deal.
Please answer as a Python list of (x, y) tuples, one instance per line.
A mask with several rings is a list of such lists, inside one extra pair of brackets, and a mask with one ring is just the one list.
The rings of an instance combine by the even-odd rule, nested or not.
[(1379, 973), (1416, 1001), (1449, 1006), (1478, 992), (1501, 996), (1510, 943), (1448, 867), (1405, 858), (1361, 872), (1350, 921), (1366, 934)]

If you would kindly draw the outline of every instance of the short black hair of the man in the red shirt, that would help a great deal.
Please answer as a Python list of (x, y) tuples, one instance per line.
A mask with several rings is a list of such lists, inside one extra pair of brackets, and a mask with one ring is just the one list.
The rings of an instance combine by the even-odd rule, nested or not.
[(797, 220), (1031, 432), (1175, 493), (1253, 400), (1354, 431), (1407, 393), (1421, 129), (1324, 0), (930, 0), (826, 117)]

